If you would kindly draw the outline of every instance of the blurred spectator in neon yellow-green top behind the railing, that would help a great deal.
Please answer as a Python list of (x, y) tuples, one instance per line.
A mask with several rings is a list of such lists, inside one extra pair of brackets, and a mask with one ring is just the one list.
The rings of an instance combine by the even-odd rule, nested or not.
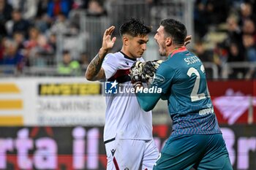
[(58, 73), (66, 76), (80, 75), (80, 64), (78, 61), (72, 61), (69, 51), (63, 52), (62, 62), (58, 64)]

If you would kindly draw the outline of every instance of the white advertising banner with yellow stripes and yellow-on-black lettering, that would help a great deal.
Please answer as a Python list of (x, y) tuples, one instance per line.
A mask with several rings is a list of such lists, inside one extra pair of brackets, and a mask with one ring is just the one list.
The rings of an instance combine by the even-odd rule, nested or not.
[(101, 83), (84, 78), (0, 80), (0, 125), (104, 125)]

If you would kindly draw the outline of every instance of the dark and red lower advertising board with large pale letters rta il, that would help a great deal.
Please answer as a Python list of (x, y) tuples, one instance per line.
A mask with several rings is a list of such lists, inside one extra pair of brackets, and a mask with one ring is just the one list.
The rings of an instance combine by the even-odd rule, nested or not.
[[(221, 129), (233, 169), (255, 170), (256, 126)], [(0, 169), (106, 169), (103, 127), (0, 127), (0, 131)], [(159, 150), (170, 131), (170, 125), (154, 125)]]

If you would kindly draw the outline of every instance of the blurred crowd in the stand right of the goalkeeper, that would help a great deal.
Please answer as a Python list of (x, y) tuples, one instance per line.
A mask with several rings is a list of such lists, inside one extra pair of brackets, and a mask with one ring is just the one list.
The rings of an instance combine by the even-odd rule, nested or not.
[[(256, 1), (197, 0), (194, 12), (194, 49), (200, 59), (215, 63), (222, 77), (255, 78), (255, 66), (241, 63), (256, 61)], [(225, 67), (231, 63), (236, 67)]]

